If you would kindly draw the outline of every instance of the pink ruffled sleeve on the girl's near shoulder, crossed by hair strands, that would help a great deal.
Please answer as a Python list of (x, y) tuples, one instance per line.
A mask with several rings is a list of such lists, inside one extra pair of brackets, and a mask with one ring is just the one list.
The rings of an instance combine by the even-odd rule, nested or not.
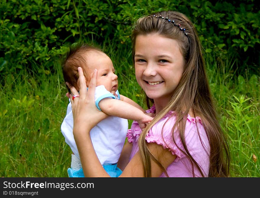
[[(152, 129), (146, 135), (147, 142), (155, 142), (162, 145), (164, 149), (168, 149), (173, 155), (176, 155), (176, 162), (182, 159), (186, 155), (183, 153), (184, 147), (181, 142), (180, 135), (178, 131), (173, 132), (174, 140), (172, 137), (172, 128), (176, 121), (175, 116), (170, 116), (173, 112), (170, 112), (163, 119), (158, 121)], [(199, 129), (199, 134), (197, 132), (197, 126)], [(165, 125), (164, 125), (165, 124)], [(164, 127), (163, 127), (164, 126)], [(190, 153), (200, 153), (206, 148), (206, 155), (209, 155), (209, 142), (207, 139), (207, 134), (202, 125), (202, 121), (199, 117), (192, 118), (190, 115), (187, 117), (186, 128), (185, 128), (185, 141)], [(202, 142), (201, 142), (202, 141)], [(197, 154), (196, 154), (197, 155)]]

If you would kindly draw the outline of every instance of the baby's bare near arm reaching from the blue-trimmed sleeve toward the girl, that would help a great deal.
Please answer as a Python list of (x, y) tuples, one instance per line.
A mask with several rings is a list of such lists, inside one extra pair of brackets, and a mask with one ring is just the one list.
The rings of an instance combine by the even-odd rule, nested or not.
[(100, 100), (98, 106), (101, 111), (110, 116), (137, 121), (141, 129), (145, 128), (145, 123), (149, 123), (153, 119), (151, 116), (146, 115), (141, 109), (122, 100), (104, 98)]

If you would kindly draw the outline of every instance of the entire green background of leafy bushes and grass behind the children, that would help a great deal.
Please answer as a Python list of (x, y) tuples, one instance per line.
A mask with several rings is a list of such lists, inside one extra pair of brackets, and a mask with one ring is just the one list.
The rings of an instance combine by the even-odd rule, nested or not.
[(260, 11), (254, 0), (0, 1), (0, 176), (67, 177), (71, 151), (60, 126), (68, 99), (60, 60), (71, 43), (100, 45), (121, 93), (146, 108), (131, 60), (131, 27), (160, 10), (183, 12), (198, 30), (232, 176), (260, 177)]

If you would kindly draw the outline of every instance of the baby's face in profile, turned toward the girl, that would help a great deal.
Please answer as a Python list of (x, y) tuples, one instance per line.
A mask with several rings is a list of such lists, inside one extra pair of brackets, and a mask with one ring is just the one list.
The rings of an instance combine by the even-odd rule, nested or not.
[[(91, 51), (87, 55), (87, 65), (90, 71), (89, 77), (92, 76), (94, 69), (98, 70), (97, 86), (104, 85), (106, 90), (115, 95), (118, 81), (111, 59), (103, 52)], [(87, 86), (89, 83), (90, 80), (87, 80)]]

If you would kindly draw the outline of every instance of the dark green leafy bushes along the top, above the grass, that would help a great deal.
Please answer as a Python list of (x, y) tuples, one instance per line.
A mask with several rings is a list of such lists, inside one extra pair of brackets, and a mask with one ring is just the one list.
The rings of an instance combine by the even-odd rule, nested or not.
[(239, 74), (245, 69), (259, 72), (260, 11), (254, 0), (9, 0), (0, 3), (0, 74), (20, 69), (52, 72), (69, 43), (79, 39), (100, 45), (113, 39), (117, 48), (130, 51), (134, 21), (160, 10), (189, 16), (205, 52), (220, 59), (233, 54)]

